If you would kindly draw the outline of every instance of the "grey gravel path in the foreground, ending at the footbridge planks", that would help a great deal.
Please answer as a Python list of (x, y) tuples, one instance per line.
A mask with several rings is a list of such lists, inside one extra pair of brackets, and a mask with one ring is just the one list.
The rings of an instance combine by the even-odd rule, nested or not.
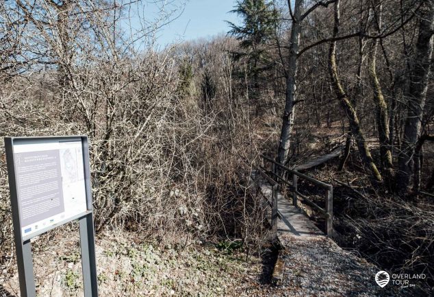
[(381, 288), (374, 277), (379, 268), (339, 248), (325, 237), (286, 237), (281, 259), (283, 279), (276, 296), (419, 296), (413, 288), (390, 282)]

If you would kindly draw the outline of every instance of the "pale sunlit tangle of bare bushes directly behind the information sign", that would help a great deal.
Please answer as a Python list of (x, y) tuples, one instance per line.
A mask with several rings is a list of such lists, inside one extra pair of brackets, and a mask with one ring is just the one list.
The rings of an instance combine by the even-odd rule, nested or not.
[[(39, 4), (36, 21), (23, 16), (33, 25), (23, 34), (21, 47), (37, 43), (51, 66), (27, 61), (25, 73), (1, 76), (1, 136), (88, 135), (98, 231), (127, 226), (157, 236), (205, 229), (203, 194), (194, 188), (197, 173), (188, 150), (202, 137), (196, 134), (202, 120), (175, 92), (179, 78), (173, 49), (156, 52), (146, 43), (147, 50), (138, 53), (129, 40), (119, 39), (121, 32), (107, 32), (110, 9), (84, 12), (94, 8), (91, 1), (77, 1), (59, 14), (44, 14), (57, 8)], [(13, 13), (1, 8), (2, 16)], [(64, 19), (64, 27), (47, 31), (36, 25), (59, 21), (53, 18), (63, 14), (74, 16)], [(76, 28), (77, 24), (92, 26)], [(12, 254), (12, 224), (1, 160), (3, 262)], [(180, 211), (187, 207), (188, 215)]]

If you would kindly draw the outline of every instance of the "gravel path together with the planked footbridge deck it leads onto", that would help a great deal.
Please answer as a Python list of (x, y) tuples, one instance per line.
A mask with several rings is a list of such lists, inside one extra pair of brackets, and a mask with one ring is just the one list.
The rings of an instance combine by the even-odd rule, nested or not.
[[(271, 185), (258, 171), (251, 176), (252, 185), (253, 182), (268, 207)], [(272, 272), (277, 284), (273, 296), (411, 296), (411, 289), (410, 292), (398, 291), (394, 286), (376, 285), (374, 276), (381, 268), (342, 250), (280, 192), (277, 193), (277, 209), (280, 216), (277, 239), (282, 249)], [(271, 210), (269, 221), (270, 218)]]

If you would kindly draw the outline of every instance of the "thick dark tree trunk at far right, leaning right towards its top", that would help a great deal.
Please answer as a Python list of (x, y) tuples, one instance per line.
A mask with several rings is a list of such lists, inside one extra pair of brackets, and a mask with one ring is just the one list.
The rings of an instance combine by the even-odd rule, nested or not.
[(431, 71), (434, 33), (434, 0), (425, 0), (420, 8), (419, 36), (410, 78), (407, 119), (396, 176), (398, 191), (403, 194), (409, 187), (416, 142), (420, 136), (426, 91)]

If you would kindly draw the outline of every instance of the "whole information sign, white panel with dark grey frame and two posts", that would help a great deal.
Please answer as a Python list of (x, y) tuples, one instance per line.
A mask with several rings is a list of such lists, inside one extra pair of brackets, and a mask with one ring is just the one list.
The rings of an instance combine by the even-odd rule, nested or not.
[(97, 297), (87, 136), (5, 137), (21, 297), (36, 297), (30, 239), (79, 220), (84, 296)]

